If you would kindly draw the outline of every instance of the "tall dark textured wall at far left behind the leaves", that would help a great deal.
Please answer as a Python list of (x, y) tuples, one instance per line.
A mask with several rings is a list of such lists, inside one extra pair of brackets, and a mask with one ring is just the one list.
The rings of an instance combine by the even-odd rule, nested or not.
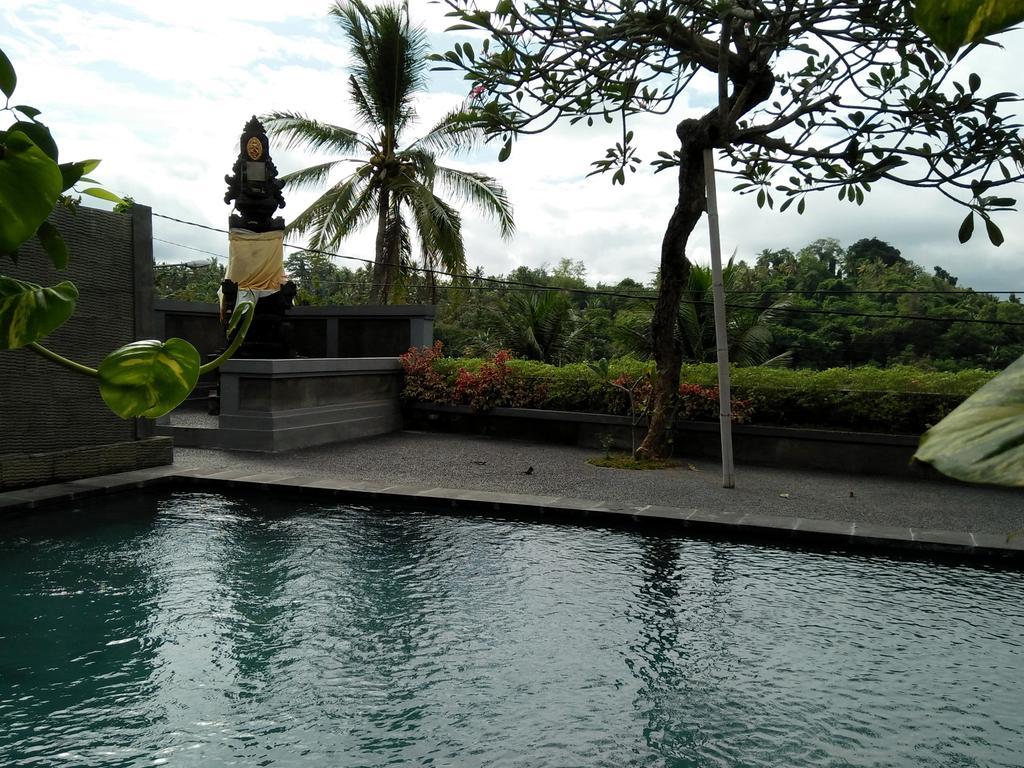
[[(41, 343), (95, 367), (117, 347), (152, 334), (151, 211), (145, 206), (124, 214), (58, 210), (51, 221), (71, 252), (67, 270), (55, 270), (33, 242), (22, 248), (17, 264), (5, 259), (0, 271), (44, 286), (72, 281), (80, 294), (78, 309)], [(139, 436), (135, 422), (108, 410), (94, 379), (24, 349), (0, 351), (0, 456), (63, 452)]]

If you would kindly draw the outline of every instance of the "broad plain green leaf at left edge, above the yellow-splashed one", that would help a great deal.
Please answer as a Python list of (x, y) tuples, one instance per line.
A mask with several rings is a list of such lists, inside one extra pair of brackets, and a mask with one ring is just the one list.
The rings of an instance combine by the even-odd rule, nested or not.
[(3, 139), (0, 158), (0, 253), (27, 241), (50, 215), (60, 195), (57, 164), (20, 131)]

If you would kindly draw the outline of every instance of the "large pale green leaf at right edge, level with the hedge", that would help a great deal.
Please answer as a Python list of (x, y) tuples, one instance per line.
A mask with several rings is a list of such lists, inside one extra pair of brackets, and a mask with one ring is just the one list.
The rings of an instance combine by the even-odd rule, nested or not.
[(929, 429), (913, 458), (957, 480), (1024, 486), (1024, 357)]

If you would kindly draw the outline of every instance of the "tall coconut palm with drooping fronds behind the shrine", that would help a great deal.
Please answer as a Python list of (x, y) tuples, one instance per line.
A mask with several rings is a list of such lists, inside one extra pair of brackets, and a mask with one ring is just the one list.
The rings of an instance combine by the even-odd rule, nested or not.
[(426, 33), (410, 27), (408, 10), (349, 0), (336, 2), (330, 14), (344, 32), (355, 60), (348, 92), (362, 132), (292, 112), (271, 113), (264, 123), (271, 135), (286, 139), (286, 146), (342, 156), (283, 176), (293, 187), (321, 185), (340, 166), (355, 165), (288, 229), (309, 233), (313, 249), (331, 250), (376, 219), (375, 295), (387, 303), (400, 267), (413, 261), (414, 230), (421, 252), (436, 255), (443, 270), (466, 269), (462, 217), (435, 194), (435, 187), (494, 216), (506, 238), (514, 230), (512, 209), (495, 179), (435, 162), (438, 153), (468, 148), (474, 142), (476, 135), (463, 112), (451, 113), (426, 135), (403, 143), (416, 118), (413, 98), (426, 84), (427, 69)]

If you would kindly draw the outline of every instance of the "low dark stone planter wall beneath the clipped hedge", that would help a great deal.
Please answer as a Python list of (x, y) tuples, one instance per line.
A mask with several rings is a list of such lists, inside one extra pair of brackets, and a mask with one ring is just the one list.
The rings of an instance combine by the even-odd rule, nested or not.
[[(645, 425), (631, 426), (629, 417), (568, 411), (496, 408), (474, 414), (467, 406), (407, 404), (406, 429), (484, 434), (494, 437), (603, 447), (610, 442), (629, 450)], [(916, 435), (837, 432), (737, 424), (732, 428), (735, 461), (792, 469), (820, 469), (853, 474), (928, 476), (926, 465), (911, 464)], [(680, 422), (674, 432), (675, 454), (682, 459), (721, 459), (719, 427), (710, 422)]]

